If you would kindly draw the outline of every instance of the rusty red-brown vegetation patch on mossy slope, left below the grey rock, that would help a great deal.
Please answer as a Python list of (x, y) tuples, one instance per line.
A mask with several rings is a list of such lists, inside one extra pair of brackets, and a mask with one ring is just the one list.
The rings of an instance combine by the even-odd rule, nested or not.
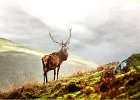
[(106, 97), (113, 98), (120, 93), (118, 90), (120, 81), (115, 77), (113, 70), (107, 68), (101, 73), (100, 81), (94, 86), (96, 92), (104, 92), (101, 95), (101, 99)]

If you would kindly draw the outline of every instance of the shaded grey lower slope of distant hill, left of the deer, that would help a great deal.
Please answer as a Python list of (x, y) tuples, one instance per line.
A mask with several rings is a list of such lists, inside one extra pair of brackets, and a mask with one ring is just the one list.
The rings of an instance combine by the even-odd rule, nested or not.
[(10, 89), (12, 85), (24, 85), (25, 82), (42, 79), (40, 57), (17, 51), (5, 51), (0, 54), (0, 87)]

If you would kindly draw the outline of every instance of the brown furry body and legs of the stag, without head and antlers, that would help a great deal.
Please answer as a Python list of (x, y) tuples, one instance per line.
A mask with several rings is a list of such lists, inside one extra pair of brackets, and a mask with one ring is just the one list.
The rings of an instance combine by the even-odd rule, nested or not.
[(43, 63), (43, 71), (44, 71), (44, 83), (48, 81), (47, 79), (47, 73), (50, 70), (54, 70), (54, 80), (56, 75), (56, 68), (57, 68), (57, 79), (59, 74), (60, 65), (63, 61), (66, 61), (68, 58), (67, 51), (63, 51), (61, 49), (59, 52), (53, 52), (50, 55), (45, 55), (42, 57), (42, 63)]

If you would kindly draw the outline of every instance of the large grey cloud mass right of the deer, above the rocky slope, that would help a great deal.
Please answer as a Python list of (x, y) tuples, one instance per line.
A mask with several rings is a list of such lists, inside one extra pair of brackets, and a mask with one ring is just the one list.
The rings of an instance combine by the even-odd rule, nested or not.
[(86, 36), (78, 37), (81, 44), (83, 42), (91, 45), (93, 52), (101, 55), (89, 51), (89, 47), (85, 51), (96, 55), (96, 57), (98, 56), (99, 58), (95, 59), (100, 59), (102, 62), (121, 60), (132, 53), (138, 53), (140, 51), (138, 45), (140, 43), (140, 15), (138, 15), (138, 12), (115, 11), (110, 13), (110, 16), (112, 16), (110, 20), (106, 20), (96, 27), (94, 27), (94, 23), (90, 23), (90, 20), (82, 24), (78, 23), (78, 25), (84, 25), (83, 27), (85, 27), (85, 31), (81, 34), (86, 34)]

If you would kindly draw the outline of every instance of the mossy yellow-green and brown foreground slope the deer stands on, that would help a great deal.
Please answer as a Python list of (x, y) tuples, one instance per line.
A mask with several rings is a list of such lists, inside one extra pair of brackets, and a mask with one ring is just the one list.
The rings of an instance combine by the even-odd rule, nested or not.
[(3, 99), (138, 99), (140, 72), (130, 66), (127, 72), (114, 74), (116, 63), (85, 73), (51, 81), (45, 85), (28, 83), (23, 87), (0, 93)]

